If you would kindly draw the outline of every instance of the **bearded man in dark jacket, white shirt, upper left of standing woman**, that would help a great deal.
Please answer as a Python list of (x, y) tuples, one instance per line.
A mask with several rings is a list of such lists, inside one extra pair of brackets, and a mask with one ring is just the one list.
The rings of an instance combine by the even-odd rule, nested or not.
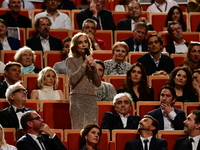
[(48, 17), (40, 17), (35, 22), (37, 35), (26, 40), (26, 45), (32, 50), (50, 51), (62, 50), (62, 41), (49, 35), (51, 20)]

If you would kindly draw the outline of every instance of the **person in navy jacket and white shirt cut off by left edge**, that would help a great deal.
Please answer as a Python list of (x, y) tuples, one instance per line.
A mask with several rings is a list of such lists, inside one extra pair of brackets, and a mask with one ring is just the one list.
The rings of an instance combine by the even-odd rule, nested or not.
[(3, 19), (0, 19), (0, 27), (0, 50), (19, 49), (21, 47), (19, 40), (15, 37), (7, 37), (8, 25)]

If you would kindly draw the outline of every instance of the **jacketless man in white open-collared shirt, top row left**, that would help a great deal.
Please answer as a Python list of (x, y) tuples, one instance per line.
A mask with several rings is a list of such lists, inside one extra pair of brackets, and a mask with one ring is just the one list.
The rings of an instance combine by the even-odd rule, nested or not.
[(47, 9), (35, 15), (35, 22), (40, 17), (48, 17), (51, 20), (51, 29), (72, 29), (69, 16), (57, 10), (60, 0), (44, 0), (44, 3)]

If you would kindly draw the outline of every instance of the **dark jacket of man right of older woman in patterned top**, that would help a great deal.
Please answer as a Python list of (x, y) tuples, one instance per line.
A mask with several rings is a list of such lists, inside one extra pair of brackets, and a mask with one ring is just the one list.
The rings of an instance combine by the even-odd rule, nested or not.
[(160, 70), (164, 70), (169, 74), (175, 67), (173, 59), (163, 54), (161, 54), (158, 67), (151, 59), (150, 53), (144, 54), (143, 56), (139, 57), (137, 62), (143, 64), (144, 68), (146, 69), (147, 75), (152, 75), (154, 72)]

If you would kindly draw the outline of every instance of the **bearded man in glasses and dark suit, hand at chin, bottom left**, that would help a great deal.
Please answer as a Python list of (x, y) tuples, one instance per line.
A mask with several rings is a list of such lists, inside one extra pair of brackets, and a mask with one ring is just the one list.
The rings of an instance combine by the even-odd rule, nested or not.
[(67, 150), (36, 111), (25, 112), (20, 121), (25, 135), (17, 141), (18, 150)]

